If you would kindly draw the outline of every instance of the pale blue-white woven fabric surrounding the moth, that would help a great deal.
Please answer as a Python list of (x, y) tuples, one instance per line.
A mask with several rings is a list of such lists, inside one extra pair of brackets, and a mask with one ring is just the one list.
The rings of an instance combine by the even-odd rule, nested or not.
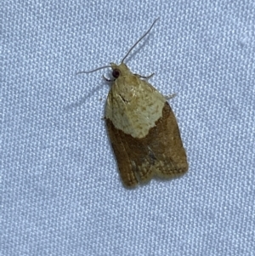
[[(3, 1), (1, 255), (255, 255), (255, 2)], [(156, 75), (189, 173), (123, 187), (103, 74)]]

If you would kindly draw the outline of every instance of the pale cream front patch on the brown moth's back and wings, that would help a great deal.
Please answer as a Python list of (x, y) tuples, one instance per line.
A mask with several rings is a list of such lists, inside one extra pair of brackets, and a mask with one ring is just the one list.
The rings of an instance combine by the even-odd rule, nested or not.
[(144, 138), (162, 115), (166, 99), (135, 75), (119, 77), (106, 101), (105, 117), (133, 138)]

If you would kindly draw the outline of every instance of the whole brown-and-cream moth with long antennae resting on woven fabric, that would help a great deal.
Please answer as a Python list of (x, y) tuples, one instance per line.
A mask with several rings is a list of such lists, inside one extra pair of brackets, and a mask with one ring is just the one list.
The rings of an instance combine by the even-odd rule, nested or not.
[[(158, 19), (157, 19), (158, 20)], [(152, 77), (133, 74), (124, 64), (111, 63), (114, 80), (105, 107), (105, 120), (116, 161), (127, 187), (149, 181), (153, 176), (173, 178), (188, 170), (178, 124), (166, 97), (147, 82)], [(82, 71), (79, 73), (89, 73)]]

